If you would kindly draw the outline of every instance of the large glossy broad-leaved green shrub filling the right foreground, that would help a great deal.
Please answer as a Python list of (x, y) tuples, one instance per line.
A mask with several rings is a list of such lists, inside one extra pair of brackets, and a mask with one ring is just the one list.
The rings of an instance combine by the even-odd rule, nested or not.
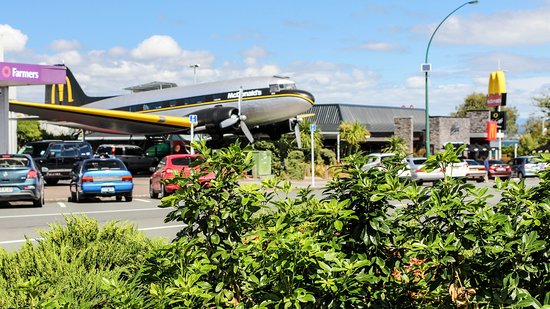
[[(171, 180), (181, 189), (161, 201), (171, 209), (166, 221), (184, 225), (176, 240), (152, 248), (137, 263), (129, 259), (125, 271), (102, 273), (100, 300), (77, 302), (79, 307), (550, 306), (550, 168), (540, 173), (538, 186), (497, 179), (502, 198), (489, 204), (487, 188), (460, 179), (425, 187), (399, 178), (400, 154), (365, 171), (367, 157), (357, 153), (343, 160), (340, 176), (320, 199), (309, 188), (292, 192), (289, 182), (277, 178), (239, 184), (252, 166), (251, 154), (239, 144), (218, 152), (195, 145), (204, 170)], [(449, 168), (462, 151), (449, 145), (428, 158), (428, 169)], [(550, 164), (550, 155), (542, 160)], [(207, 172), (217, 177), (201, 184)], [(81, 229), (71, 230), (77, 234), (71, 244), (86, 252), (97, 238), (88, 235), (97, 228)], [(122, 263), (97, 251), (90, 259), (78, 255), (83, 273), (103, 269), (98, 260)], [(73, 294), (42, 290), (50, 276), (4, 293), (24, 295), (26, 306), (72, 304), (67, 297)], [(72, 284), (71, 291), (82, 290)], [(97, 289), (86, 281), (82, 286)]]

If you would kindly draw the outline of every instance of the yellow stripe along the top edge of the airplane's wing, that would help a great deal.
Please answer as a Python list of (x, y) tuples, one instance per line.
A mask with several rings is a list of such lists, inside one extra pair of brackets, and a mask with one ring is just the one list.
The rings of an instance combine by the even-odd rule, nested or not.
[(21, 102), (21, 101), (10, 101), (10, 104), (19, 105), (29, 108), (37, 108), (44, 110), (52, 111), (63, 111), (74, 114), (106, 117), (106, 118), (117, 118), (122, 120), (130, 121), (139, 121), (150, 124), (162, 124), (173, 127), (180, 128), (189, 128), (191, 123), (189, 122), (188, 117), (174, 117), (174, 116), (159, 116), (159, 115), (148, 115), (148, 114), (138, 114), (135, 112), (125, 112), (125, 111), (115, 111), (109, 109), (99, 109), (99, 108), (88, 108), (88, 107), (76, 107), (76, 106), (65, 106), (65, 105), (51, 105), (44, 103), (32, 103), (32, 102)]

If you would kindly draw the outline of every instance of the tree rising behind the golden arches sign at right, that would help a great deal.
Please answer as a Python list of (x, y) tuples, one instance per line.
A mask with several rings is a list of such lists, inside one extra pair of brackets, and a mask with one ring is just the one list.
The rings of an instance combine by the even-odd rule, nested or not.
[[(464, 103), (455, 107), (455, 112), (451, 113), (453, 117), (466, 117), (469, 110), (492, 110), (493, 107), (487, 106), (487, 96), (483, 93), (472, 93), (464, 99)], [(502, 106), (501, 111), (506, 112), (506, 131), (507, 135), (514, 135), (518, 132), (517, 118), (518, 110), (516, 107)]]

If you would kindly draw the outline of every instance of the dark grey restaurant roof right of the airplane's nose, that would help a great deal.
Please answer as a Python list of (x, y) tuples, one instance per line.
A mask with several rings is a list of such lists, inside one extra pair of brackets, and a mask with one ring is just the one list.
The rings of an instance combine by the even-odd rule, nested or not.
[(370, 106), (359, 104), (315, 104), (306, 113), (313, 113), (310, 120), (323, 132), (338, 131), (342, 121), (358, 120), (371, 133), (393, 133), (394, 117), (413, 117), (413, 128), (420, 132), (425, 128), (425, 110), (420, 108)]

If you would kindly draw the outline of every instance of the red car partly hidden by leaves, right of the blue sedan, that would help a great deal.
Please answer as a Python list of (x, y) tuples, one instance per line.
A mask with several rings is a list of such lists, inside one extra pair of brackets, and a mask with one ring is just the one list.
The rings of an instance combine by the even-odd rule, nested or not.
[[(174, 175), (191, 175), (191, 167), (189, 165), (197, 158), (201, 158), (200, 155), (191, 154), (173, 154), (164, 157), (160, 160), (155, 171), (149, 179), (149, 196), (151, 198), (162, 198), (164, 196), (174, 193), (180, 188), (177, 184), (164, 184), (163, 180), (172, 179)], [(199, 170), (199, 166), (193, 167), (195, 170)], [(209, 173), (202, 176), (199, 180), (201, 183), (208, 183), (214, 178), (213, 173)]]

